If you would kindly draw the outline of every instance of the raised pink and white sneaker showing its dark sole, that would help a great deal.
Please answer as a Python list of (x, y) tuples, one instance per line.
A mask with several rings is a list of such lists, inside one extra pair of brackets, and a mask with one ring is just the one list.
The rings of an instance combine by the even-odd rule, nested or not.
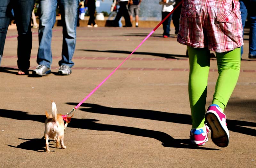
[(223, 113), (223, 110), (217, 104), (212, 104), (205, 113), (205, 119), (212, 130), (212, 142), (218, 147), (227, 147), (229, 133), (226, 124), (226, 115)]

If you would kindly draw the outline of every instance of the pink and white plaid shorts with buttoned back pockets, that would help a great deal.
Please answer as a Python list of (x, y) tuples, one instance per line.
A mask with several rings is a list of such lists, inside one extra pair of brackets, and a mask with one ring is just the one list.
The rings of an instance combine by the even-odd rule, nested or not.
[(243, 45), (240, 4), (235, 0), (183, 0), (177, 41), (227, 52)]

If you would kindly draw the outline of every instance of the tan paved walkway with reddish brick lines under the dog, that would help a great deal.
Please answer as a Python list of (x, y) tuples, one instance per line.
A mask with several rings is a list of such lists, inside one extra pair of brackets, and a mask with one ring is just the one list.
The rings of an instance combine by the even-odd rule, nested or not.
[[(65, 131), (67, 149), (44, 152), (44, 112), (51, 100), (68, 113), (106, 78), (153, 28), (77, 28), (75, 66), (58, 76), (62, 28), (53, 28), (52, 74), (18, 76), (17, 31), (9, 29), (1, 63), (0, 167), (256, 167), (256, 61), (249, 60), (248, 36), (241, 73), (225, 110), (230, 144), (189, 145), (186, 46), (162, 29), (148, 38), (75, 112)], [(32, 71), (37, 29), (33, 30)], [(172, 28), (171, 32), (174, 32)], [(211, 61), (207, 106), (218, 77)], [(31, 74), (30, 71), (30, 74)]]

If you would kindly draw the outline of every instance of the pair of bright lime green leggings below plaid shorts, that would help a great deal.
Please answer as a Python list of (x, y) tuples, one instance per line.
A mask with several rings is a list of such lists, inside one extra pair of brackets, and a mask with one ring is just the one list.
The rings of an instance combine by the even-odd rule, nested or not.
[[(188, 46), (188, 95), (193, 128), (204, 126), (207, 81), (210, 69), (209, 53), (207, 48)], [(216, 58), (219, 77), (216, 82), (212, 104), (219, 105), (224, 111), (240, 73), (240, 48), (229, 52), (216, 52)]]

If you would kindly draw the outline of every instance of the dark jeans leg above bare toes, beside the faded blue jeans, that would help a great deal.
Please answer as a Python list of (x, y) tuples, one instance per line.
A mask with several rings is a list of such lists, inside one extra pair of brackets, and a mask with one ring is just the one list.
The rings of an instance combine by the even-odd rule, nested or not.
[(28, 70), (32, 49), (31, 15), (35, 0), (17, 0), (14, 4), (14, 18), (18, 30), (18, 68)]

